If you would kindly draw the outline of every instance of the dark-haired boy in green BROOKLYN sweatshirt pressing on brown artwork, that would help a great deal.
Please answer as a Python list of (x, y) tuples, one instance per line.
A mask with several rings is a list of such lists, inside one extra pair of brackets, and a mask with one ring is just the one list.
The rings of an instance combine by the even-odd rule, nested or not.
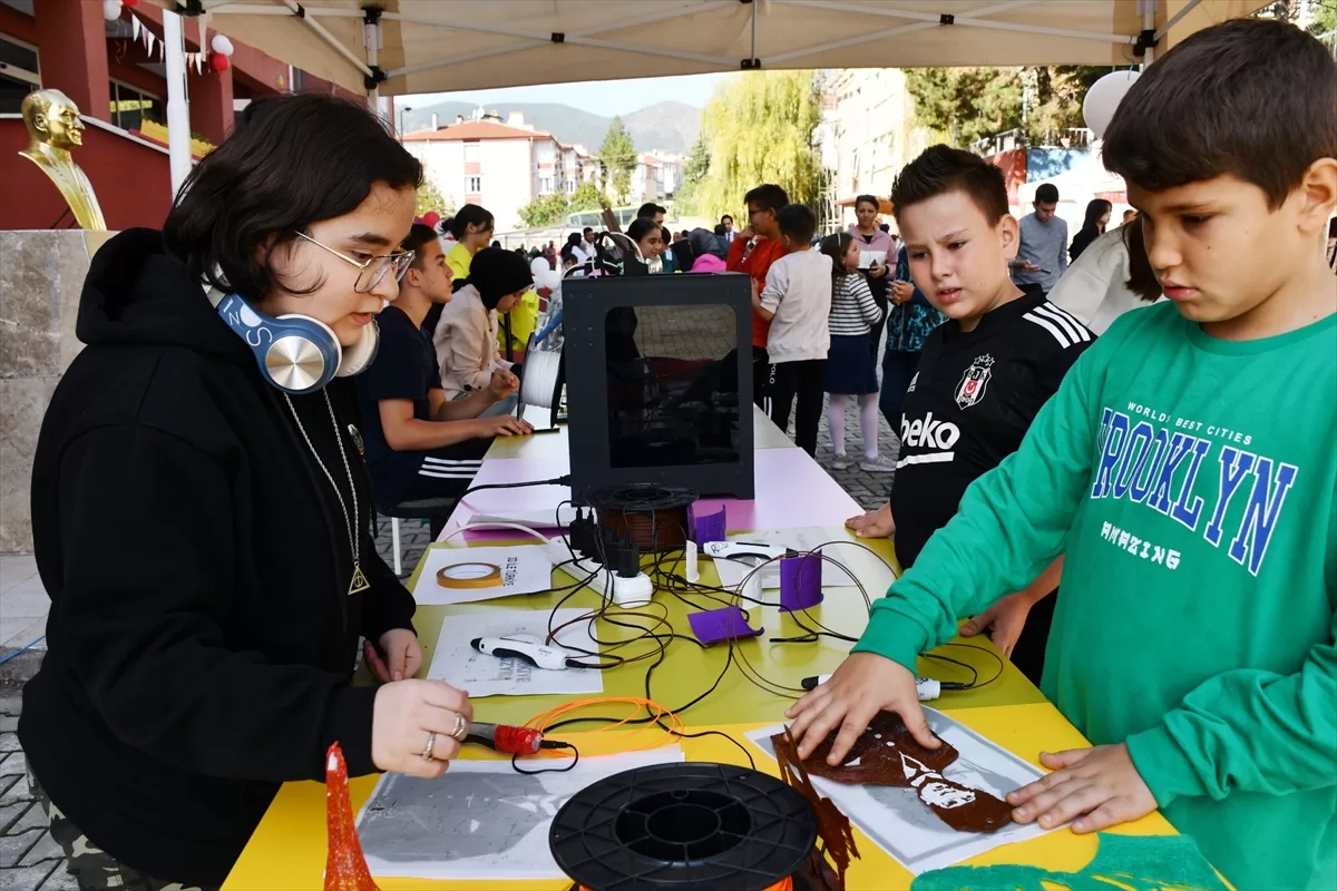
[[(936, 747), (915, 657), (1066, 553), (1044, 693), (1095, 748), (1013, 816), (1094, 832), (1157, 807), (1239, 888), (1337, 879), (1337, 63), (1227, 21), (1132, 85), (1104, 163), (1166, 303), (1122, 317), (1021, 448), (792, 709), (800, 755), (880, 709)], [(919, 274), (916, 274), (919, 278)]]

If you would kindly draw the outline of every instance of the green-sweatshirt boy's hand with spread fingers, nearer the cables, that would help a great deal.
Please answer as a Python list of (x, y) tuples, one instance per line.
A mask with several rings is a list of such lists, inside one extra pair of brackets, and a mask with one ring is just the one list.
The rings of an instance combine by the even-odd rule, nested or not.
[(924, 717), (915, 675), (876, 653), (852, 653), (830, 680), (794, 703), (785, 716), (794, 721), (790, 732), (798, 743), (801, 759), (812, 755), (828, 733), (840, 728), (826, 757), (826, 763), (836, 767), (868, 729), (868, 723), (882, 711), (900, 715), (921, 745), (937, 748), (941, 744)]

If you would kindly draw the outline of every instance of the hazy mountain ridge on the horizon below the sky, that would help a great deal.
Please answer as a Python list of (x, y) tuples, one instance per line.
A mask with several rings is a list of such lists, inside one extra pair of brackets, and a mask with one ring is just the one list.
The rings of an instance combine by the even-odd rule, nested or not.
[[(441, 102), (435, 106), (421, 108), (410, 106), (412, 111), (404, 112), (404, 130), (427, 130), (432, 126), (432, 115), (437, 115), (441, 127), (455, 123), (457, 116), (469, 118), (477, 110), (477, 104), (468, 102)], [(579, 143), (591, 152), (598, 152), (603, 144), (603, 136), (608, 132), (612, 118), (595, 115), (580, 108), (572, 108), (559, 103), (545, 102), (516, 102), (496, 106), (484, 106), (485, 111), (495, 111), (505, 120), (512, 111), (524, 115), (527, 124), (533, 124), (536, 130), (547, 130), (554, 136), (567, 144)], [(660, 151), (686, 155), (697, 142), (701, 132), (701, 110), (681, 102), (660, 102), (648, 108), (634, 111), (622, 116), (636, 151)]]

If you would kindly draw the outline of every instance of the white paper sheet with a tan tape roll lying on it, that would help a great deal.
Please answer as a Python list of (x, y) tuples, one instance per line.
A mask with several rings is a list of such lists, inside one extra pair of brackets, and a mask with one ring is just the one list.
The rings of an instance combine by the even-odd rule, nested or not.
[[(479, 564), (477, 568), (463, 564)], [(451, 569), (457, 566), (457, 569)], [(449, 588), (437, 580), (437, 572), (448, 576), (475, 577), (487, 574), (484, 566), (497, 570), (497, 584), (491, 588)], [(420, 604), (472, 604), (480, 600), (532, 594), (552, 588), (552, 561), (543, 545), (512, 548), (428, 548), (422, 556), (422, 570), (413, 585), (413, 600)]]

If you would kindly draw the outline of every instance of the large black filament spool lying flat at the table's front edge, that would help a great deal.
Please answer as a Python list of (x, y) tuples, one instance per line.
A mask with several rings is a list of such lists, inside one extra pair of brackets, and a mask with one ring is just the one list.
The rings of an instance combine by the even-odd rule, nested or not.
[(731, 764), (624, 771), (576, 792), (548, 847), (588, 891), (763, 891), (813, 852), (817, 815), (798, 791)]

